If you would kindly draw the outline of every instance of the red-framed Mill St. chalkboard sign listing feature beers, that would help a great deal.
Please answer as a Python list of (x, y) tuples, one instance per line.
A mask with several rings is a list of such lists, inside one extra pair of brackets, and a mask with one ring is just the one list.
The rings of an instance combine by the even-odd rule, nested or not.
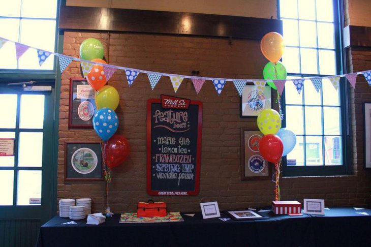
[(147, 103), (147, 192), (197, 195), (202, 102), (162, 96)]

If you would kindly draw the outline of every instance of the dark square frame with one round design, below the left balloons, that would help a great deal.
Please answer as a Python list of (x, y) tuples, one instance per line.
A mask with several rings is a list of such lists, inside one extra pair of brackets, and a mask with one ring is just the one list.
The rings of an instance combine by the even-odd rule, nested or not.
[(65, 142), (65, 181), (103, 180), (101, 142)]

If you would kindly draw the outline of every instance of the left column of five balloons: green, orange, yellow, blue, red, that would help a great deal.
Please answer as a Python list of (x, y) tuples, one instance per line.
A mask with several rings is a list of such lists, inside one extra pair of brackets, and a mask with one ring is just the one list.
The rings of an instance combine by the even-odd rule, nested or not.
[[(95, 63), (107, 64), (103, 60), (104, 48), (95, 38), (84, 40), (80, 46), (80, 57)], [(102, 65), (94, 65), (86, 76), (89, 85), (96, 90), (95, 102), (97, 110), (93, 117), (93, 127), (103, 140), (103, 161), (109, 168), (121, 165), (130, 154), (128, 140), (115, 134), (118, 128), (118, 117), (115, 112), (120, 97), (116, 88), (106, 85), (107, 79)], [(105, 170), (106, 180), (110, 180), (110, 172)]]

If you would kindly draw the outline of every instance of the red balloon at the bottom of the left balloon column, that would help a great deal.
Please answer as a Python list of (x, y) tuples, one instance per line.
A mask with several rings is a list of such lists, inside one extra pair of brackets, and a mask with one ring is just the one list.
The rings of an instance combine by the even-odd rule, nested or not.
[(121, 135), (114, 134), (103, 145), (103, 160), (110, 168), (121, 165), (130, 155), (128, 140)]

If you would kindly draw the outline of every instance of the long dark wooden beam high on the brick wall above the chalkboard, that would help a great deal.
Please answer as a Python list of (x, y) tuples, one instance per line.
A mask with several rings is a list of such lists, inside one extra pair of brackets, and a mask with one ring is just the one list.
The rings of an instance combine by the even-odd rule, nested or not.
[(60, 8), (59, 28), (260, 40), (269, 32), (282, 34), (282, 21), (183, 12), (64, 6)]

